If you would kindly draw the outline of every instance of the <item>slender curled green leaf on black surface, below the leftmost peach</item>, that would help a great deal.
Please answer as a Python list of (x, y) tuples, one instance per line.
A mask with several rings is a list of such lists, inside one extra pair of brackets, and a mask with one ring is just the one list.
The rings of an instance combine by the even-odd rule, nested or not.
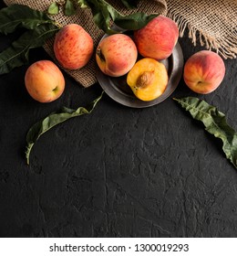
[(29, 165), (31, 150), (32, 150), (34, 144), (36, 144), (36, 141), (38, 140), (38, 138), (43, 133), (46, 133), (48, 130), (50, 130), (57, 124), (63, 123), (70, 118), (77, 117), (82, 114), (92, 112), (94, 110), (95, 106), (97, 105), (98, 101), (102, 98), (103, 92), (95, 101), (90, 102), (87, 107), (79, 107), (79, 108), (77, 108), (77, 110), (73, 110), (73, 109), (64, 107), (61, 111), (52, 112), (45, 119), (34, 124), (29, 129), (29, 131), (26, 135), (26, 143), (27, 143), (26, 162), (27, 162), (27, 165)]

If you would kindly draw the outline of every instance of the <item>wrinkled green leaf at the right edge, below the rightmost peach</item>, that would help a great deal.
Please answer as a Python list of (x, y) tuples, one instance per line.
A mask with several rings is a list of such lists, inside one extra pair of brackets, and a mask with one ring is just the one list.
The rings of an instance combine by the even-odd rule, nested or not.
[(201, 121), (205, 130), (222, 140), (222, 150), (232, 165), (237, 168), (237, 133), (226, 122), (224, 113), (219, 112), (216, 107), (211, 106), (206, 101), (201, 101), (195, 97), (174, 99), (178, 101), (182, 108), (191, 113), (191, 116)]

